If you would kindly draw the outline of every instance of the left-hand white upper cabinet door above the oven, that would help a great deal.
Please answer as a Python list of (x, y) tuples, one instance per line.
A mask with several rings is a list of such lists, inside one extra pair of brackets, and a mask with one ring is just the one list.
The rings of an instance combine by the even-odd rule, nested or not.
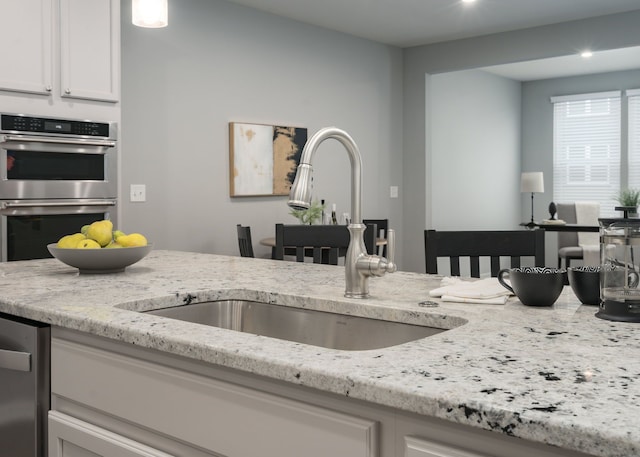
[(0, 0), (0, 89), (51, 92), (53, 0)]

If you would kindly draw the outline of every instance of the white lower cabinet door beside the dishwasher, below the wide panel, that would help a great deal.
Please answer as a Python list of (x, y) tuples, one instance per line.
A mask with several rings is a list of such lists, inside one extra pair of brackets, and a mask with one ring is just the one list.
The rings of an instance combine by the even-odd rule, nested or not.
[(49, 412), (49, 457), (174, 457), (57, 411)]

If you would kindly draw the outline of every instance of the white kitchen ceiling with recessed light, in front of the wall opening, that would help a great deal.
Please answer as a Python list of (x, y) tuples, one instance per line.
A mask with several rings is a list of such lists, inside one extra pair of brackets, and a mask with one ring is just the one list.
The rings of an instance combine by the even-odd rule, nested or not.
[(640, 0), (230, 0), (399, 47), (640, 9)]

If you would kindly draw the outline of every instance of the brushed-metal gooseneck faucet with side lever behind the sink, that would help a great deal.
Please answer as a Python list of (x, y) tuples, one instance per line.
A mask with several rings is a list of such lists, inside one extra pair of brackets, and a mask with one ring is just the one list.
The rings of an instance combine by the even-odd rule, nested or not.
[(367, 228), (362, 223), (362, 156), (355, 141), (344, 130), (336, 127), (325, 127), (316, 132), (302, 150), (302, 157), (296, 172), (296, 178), (289, 194), (289, 206), (296, 209), (307, 209), (311, 204), (311, 162), (313, 155), (324, 140), (333, 138), (338, 140), (349, 153), (351, 162), (351, 223), (347, 227), (351, 239), (345, 258), (346, 290), (345, 297), (367, 298), (369, 296), (369, 277), (383, 276), (393, 273), (397, 267), (394, 263), (396, 250), (395, 230), (387, 230), (388, 259), (377, 255), (367, 254), (364, 246), (364, 231)]

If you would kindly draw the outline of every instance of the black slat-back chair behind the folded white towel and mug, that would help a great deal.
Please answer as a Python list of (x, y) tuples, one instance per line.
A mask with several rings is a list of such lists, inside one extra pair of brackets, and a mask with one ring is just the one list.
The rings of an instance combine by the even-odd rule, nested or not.
[(427, 273), (438, 273), (438, 258), (448, 257), (451, 276), (460, 276), (460, 258), (468, 257), (471, 277), (480, 277), (480, 258), (488, 257), (491, 276), (498, 276), (500, 257), (510, 257), (511, 268), (522, 257), (533, 257), (535, 266), (544, 266), (544, 230), (424, 231)]

